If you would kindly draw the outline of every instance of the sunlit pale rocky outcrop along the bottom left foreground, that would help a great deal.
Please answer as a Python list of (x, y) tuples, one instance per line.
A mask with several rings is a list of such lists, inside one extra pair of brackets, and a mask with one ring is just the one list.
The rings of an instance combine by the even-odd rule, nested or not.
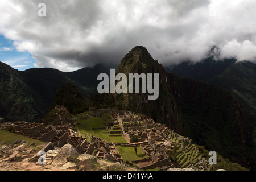
[[(45, 155), (38, 155), (39, 152)], [(42, 154), (43, 154), (42, 152)], [(45, 162), (40, 165), (39, 161)], [(16, 140), (0, 144), (0, 171), (133, 171), (135, 169), (98, 160), (93, 155), (79, 155), (71, 144), (56, 148), (52, 143), (35, 146)]]

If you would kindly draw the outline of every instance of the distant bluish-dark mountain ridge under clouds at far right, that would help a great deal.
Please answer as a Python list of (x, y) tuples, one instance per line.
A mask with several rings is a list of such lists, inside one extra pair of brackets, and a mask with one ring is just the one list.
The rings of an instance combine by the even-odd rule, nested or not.
[(247, 110), (256, 115), (256, 64), (236, 61), (216, 61), (209, 57), (195, 64), (185, 61), (164, 68), (167, 72), (176, 73), (180, 77), (205, 81), (229, 90)]

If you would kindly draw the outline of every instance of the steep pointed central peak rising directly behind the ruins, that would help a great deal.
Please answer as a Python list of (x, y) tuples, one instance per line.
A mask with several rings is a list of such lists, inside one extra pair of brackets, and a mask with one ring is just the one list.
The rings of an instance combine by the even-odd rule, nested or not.
[[(155, 61), (142, 46), (133, 48), (121, 61), (115, 75), (125, 73), (127, 78), (129, 73), (159, 73), (159, 97), (157, 100), (148, 100), (148, 95), (134, 94), (115, 94), (117, 105), (122, 109), (143, 113), (153, 118), (158, 123), (165, 123), (171, 129), (184, 134), (184, 123), (180, 111), (177, 109), (176, 102), (170, 92), (168, 83), (168, 73), (158, 61)], [(127, 79), (128, 80), (128, 79)], [(152, 78), (154, 81), (154, 76)], [(153, 83), (152, 85), (154, 86)], [(140, 86), (140, 90), (141, 86)]]

